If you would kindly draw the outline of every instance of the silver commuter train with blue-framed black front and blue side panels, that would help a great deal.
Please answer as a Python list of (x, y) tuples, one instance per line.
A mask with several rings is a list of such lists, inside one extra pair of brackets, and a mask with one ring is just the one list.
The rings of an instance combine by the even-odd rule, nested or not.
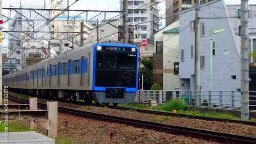
[(82, 46), (4, 76), (3, 85), (41, 97), (83, 99), (88, 104), (133, 103), (138, 51), (135, 45), (119, 43)]

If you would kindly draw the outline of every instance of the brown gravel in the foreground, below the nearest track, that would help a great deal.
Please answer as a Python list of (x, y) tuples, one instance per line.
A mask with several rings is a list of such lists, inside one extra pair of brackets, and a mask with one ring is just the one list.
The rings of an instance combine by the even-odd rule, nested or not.
[(58, 113), (58, 134), (76, 139), (72, 143), (110, 143), (111, 133), (112, 143), (218, 143)]

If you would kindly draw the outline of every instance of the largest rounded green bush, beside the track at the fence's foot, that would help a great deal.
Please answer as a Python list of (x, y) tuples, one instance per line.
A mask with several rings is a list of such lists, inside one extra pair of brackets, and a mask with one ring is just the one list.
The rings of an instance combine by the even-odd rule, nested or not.
[(162, 109), (166, 111), (176, 111), (185, 110), (188, 104), (182, 98), (174, 98), (167, 102), (165, 105), (162, 105)]

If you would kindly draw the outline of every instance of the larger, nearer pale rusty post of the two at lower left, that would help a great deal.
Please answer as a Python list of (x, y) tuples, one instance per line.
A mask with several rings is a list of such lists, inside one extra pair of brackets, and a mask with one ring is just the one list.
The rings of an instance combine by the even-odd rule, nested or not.
[(48, 130), (48, 136), (55, 139), (58, 134), (58, 102), (47, 101), (48, 120), (52, 120), (52, 130)]

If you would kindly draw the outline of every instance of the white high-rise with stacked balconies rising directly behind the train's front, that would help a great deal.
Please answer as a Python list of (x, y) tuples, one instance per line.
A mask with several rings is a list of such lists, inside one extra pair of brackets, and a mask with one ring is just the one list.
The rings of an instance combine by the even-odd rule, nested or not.
[[(139, 10), (138, 10), (139, 9)], [(123, 0), (120, 0), (120, 11), (123, 11)], [(133, 14), (134, 11), (134, 14)], [(159, 30), (159, 26), (162, 25), (161, 21), (152, 21), (159, 19), (160, 7), (158, 7), (156, 0), (128, 0), (128, 26), (136, 25), (134, 29), (134, 42), (138, 45), (141, 39), (154, 39), (154, 32)], [(152, 22), (147, 22), (152, 21)], [(147, 22), (147, 23), (142, 23)], [(123, 18), (121, 18), (120, 25), (123, 25)]]

